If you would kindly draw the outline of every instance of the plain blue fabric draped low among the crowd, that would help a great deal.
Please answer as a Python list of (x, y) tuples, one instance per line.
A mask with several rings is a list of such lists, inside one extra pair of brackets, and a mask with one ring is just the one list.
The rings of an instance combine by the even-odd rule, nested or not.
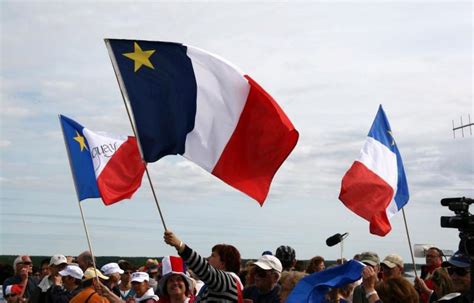
[(302, 278), (286, 299), (286, 303), (320, 303), (331, 288), (342, 287), (359, 280), (364, 264), (349, 260), (348, 262), (328, 268)]

